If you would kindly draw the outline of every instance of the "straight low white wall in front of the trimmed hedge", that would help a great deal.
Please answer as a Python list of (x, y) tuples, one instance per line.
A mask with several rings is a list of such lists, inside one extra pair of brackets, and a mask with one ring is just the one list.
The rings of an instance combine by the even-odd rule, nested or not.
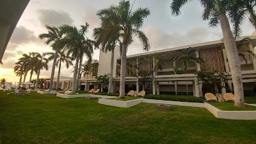
[(155, 100), (155, 99), (143, 99), (143, 102), (152, 103), (152, 104), (173, 104), (177, 106), (193, 106), (193, 107), (205, 108), (204, 103), (197, 103), (197, 102), (177, 102), (177, 101), (170, 101), (170, 100)]

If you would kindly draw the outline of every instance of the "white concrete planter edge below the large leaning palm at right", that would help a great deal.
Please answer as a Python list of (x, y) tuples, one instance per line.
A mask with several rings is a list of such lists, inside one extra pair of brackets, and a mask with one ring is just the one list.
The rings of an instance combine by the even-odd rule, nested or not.
[(208, 109), (216, 118), (230, 120), (256, 120), (256, 111), (221, 111), (211, 104), (205, 102), (205, 108)]

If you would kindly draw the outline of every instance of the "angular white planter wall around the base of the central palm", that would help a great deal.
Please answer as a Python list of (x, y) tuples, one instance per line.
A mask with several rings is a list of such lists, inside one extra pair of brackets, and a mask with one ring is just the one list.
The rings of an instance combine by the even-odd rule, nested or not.
[(99, 104), (105, 104), (108, 106), (116, 106), (119, 108), (130, 108), (143, 102), (143, 99), (134, 99), (129, 101), (111, 100), (111, 99), (99, 99)]

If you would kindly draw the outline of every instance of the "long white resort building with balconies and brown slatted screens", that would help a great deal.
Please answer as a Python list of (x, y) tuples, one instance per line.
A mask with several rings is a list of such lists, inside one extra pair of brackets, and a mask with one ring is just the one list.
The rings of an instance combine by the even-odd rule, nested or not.
[[(254, 90), (256, 82), (256, 61), (252, 54), (248, 51), (253, 51), (253, 47), (256, 46), (256, 36), (241, 36), (237, 38), (237, 44), (243, 40), (243, 38), (250, 38), (246, 40), (242, 47), (239, 47), (238, 51), (244, 54), (246, 61), (240, 58), (241, 70), (243, 75), (244, 90)], [(196, 58), (202, 58), (204, 63), (195, 63), (188, 61), (188, 70), (179, 74), (177, 72), (182, 69), (182, 60), (170, 61), (174, 56), (181, 56), (178, 50), (186, 51), (189, 49), (195, 50), (193, 56)], [(147, 59), (147, 62), (142, 62), (142, 59)], [(163, 61), (161, 69), (157, 67), (159, 60), (153, 60), (154, 58), (161, 58)], [(150, 59), (152, 59), (150, 61)], [(113, 92), (119, 91), (120, 84), (120, 51), (119, 46), (115, 47), (113, 67)], [(96, 67), (88, 71), (86, 74), (82, 74), (80, 90), (90, 90), (91, 88), (98, 88), (95, 76), (100, 76), (110, 73), (111, 52), (100, 51), (99, 61), (92, 61), (97, 64)], [(157, 63), (157, 64), (156, 64)], [(83, 64), (85, 66), (86, 63)], [(135, 67), (136, 66), (136, 67)], [(129, 90), (135, 90), (137, 93), (145, 88), (145, 85), (140, 83), (140, 77), (138, 72), (144, 70), (145, 72), (152, 72), (151, 80), (147, 82), (148, 92), (151, 94), (161, 93), (188, 93), (196, 97), (202, 97), (202, 85), (197, 84), (196, 72), (200, 70), (218, 70), (219, 72), (227, 72), (228, 81), (226, 82), (226, 90), (232, 91), (232, 79), (230, 76), (230, 68), (228, 66), (227, 54), (222, 40), (216, 40), (212, 42), (205, 42), (200, 44), (185, 45), (181, 47), (173, 47), (170, 49), (161, 49), (159, 51), (143, 52), (141, 54), (133, 54), (127, 56), (127, 72), (125, 77), (125, 92)], [(84, 76), (83, 76), (84, 75)], [(70, 88), (72, 86), (72, 78), (61, 78), (60, 88)], [(47, 82), (48, 83), (48, 82)], [(49, 84), (48, 84), (49, 85)], [(48, 86), (46, 84), (46, 86)], [(55, 84), (56, 86), (56, 84)], [(223, 93), (226, 91), (222, 90)]]

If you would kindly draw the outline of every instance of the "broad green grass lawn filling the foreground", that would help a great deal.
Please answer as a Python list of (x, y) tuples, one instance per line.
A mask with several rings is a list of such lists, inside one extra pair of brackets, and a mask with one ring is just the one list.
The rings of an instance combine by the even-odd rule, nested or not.
[(255, 143), (256, 120), (215, 118), (205, 108), (116, 108), (84, 98), (0, 91), (1, 143)]

